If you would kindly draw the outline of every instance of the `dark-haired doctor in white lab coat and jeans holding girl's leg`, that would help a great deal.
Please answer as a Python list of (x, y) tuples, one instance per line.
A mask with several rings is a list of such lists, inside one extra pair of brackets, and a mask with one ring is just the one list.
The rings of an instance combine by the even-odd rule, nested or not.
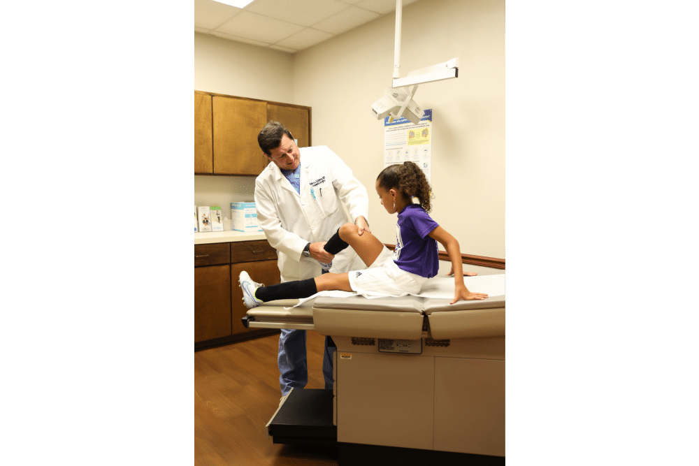
[[(363, 268), (352, 248), (336, 256), (323, 249), (340, 226), (347, 222), (342, 203), (359, 234), (370, 231), (366, 188), (352, 170), (326, 146), (296, 146), (288, 129), (268, 122), (257, 136), (270, 160), (255, 180), (257, 219), (270, 245), (277, 249), (282, 282)], [(323, 375), (325, 388), (333, 388), (332, 351), (325, 339)], [(291, 388), (308, 383), (305, 330), (282, 329), (278, 365), (280, 387), (285, 396)]]

